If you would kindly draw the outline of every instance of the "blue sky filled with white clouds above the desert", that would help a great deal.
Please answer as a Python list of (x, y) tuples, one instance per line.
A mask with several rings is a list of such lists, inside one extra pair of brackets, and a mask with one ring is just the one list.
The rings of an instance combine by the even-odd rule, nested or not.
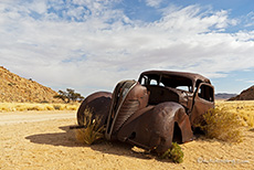
[(146, 70), (254, 84), (252, 0), (0, 1), (0, 65), (55, 91), (113, 91)]

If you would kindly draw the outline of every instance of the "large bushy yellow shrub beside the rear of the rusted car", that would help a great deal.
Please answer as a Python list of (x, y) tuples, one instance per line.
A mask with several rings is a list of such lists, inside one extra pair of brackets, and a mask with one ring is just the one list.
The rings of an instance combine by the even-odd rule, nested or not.
[(215, 138), (229, 142), (242, 141), (241, 118), (226, 109), (210, 109), (203, 115), (205, 124), (198, 125), (208, 138)]

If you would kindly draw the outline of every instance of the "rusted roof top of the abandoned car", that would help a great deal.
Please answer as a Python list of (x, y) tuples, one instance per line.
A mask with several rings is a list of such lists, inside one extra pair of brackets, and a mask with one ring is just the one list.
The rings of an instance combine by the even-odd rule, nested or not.
[(192, 82), (197, 82), (200, 79), (201, 82), (205, 82), (211, 84), (210, 79), (197, 74), (197, 73), (188, 73), (188, 72), (174, 72), (174, 71), (145, 71), (140, 74), (140, 77), (142, 75), (169, 75), (169, 76), (180, 76), (191, 79)]

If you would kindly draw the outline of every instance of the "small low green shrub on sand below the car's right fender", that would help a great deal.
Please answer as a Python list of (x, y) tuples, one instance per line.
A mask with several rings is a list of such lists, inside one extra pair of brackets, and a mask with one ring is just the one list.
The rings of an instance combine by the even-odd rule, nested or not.
[(177, 142), (172, 142), (171, 148), (169, 148), (162, 156), (161, 159), (171, 159), (176, 163), (183, 162), (183, 152), (181, 147)]

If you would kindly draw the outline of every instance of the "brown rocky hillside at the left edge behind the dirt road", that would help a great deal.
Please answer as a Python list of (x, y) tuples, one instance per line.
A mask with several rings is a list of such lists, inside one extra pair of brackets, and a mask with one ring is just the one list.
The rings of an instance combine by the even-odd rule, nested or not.
[(0, 102), (61, 103), (57, 93), (0, 66)]

